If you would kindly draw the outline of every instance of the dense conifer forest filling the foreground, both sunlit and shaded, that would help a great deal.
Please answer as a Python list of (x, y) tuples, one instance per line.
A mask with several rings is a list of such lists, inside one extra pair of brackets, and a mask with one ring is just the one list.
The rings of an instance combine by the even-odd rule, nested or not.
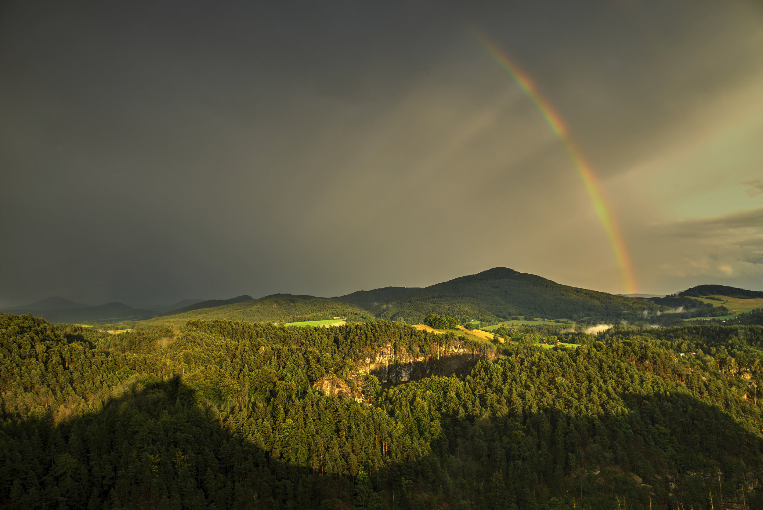
[(562, 331), (2, 314), (0, 505), (763, 508), (763, 328)]

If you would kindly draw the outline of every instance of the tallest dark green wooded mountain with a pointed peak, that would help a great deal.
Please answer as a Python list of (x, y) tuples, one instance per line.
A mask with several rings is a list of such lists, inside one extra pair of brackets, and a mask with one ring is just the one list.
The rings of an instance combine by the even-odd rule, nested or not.
[(515, 315), (543, 318), (639, 318), (643, 311), (662, 307), (640, 299), (560, 285), (552, 280), (506, 267), (461, 276), (423, 289), (406, 292), (376, 305), (380, 318), (409, 323), (436, 313), (463, 320), (506, 319)]

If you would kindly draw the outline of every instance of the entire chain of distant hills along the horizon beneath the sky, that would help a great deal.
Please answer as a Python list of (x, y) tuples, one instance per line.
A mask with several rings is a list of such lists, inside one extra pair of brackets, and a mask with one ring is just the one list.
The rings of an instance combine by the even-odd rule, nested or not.
[[(431, 314), (450, 315), (462, 322), (475, 319), (497, 322), (517, 318), (566, 318), (594, 322), (649, 320), (650, 324), (667, 324), (680, 321), (684, 315), (693, 317), (699, 316), (697, 314), (726, 313), (725, 309), (701, 305), (693, 300), (684, 302), (690, 297), (713, 294), (737, 298), (763, 297), (760, 291), (716, 285), (692, 287), (665, 298), (651, 295), (630, 297), (565, 286), (542, 276), (494, 267), (423, 288), (388, 286), (333, 298), (273, 294), (253, 299), (244, 294), (231, 299), (183, 300), (161, 307), (165, 309), (162, 311), (161, 308), (131, 308), (124, 303), (89, 306), (56, 297), (5, 311), (14, 314), (31, 311), (52, 322), (75, 324), (83, 321), (106, 323), (147, 319), (151, 320), (146, 324), (184, 324), (189, 320), (217, 318), (283, 324), (334, 317), (348, 317), (349, 321), (381, 318), (420, 324)], [(40, 309), (41, 306), (51, 308)]]

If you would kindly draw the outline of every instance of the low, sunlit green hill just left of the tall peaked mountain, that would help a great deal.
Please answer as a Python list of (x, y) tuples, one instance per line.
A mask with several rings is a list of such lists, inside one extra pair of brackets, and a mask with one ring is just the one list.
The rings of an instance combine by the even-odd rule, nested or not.
[(164, 315), (154, 322), (183, 324), (190, 319), (228, 319), (247, 322), (298, 322), (313, 321), (336, 316), (362, 315), (368, 313), (361, 308), (333, 299), (317, 298), (313, 295), (273, 294), (246, 302), (201, 308), (181, 314)]

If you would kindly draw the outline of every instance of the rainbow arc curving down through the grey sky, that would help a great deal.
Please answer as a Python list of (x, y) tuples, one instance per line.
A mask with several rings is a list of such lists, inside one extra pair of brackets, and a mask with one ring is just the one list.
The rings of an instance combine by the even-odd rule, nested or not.
[(601, 225), (604, 227), (604, 231), (607, 233), (607, 237), (610, 240), (615, 262), (620, 270), (620, 277), (623, 280), (623, 286), (626, 293), (633, 294), (637, 292), (636, 276), (633, 273), (633, 265), (630, 261), (628, 248), (626, 247), (625, 240), (623, 240), (623, 234), (620, 231), (620, 224), (617, 223), (617, 217), (614, 215), (612, 207), (607, 203), (607, 200), (604, 199), (604, 192), (594, 175), (594, 169), (591, 168), (583, 151), (578, 147), (578, 144), (575, 143), (575, 140), (572, 138), (562, 117), (556, 112), (551, 102), (542, 95), (538, 87), (533, 83), (533, 80), (530, 79), (530, 76), (527, 76), (516, 63), (513, 63), (501, 48), (497, 47), (496, 44), (488, 39), (478, 27), (472, 26), (470, 27), (470, 30), (497, 63), (501, 64), (501, 67), (509, 73), (514, 82), (516, 82), (520, 89), (522, 89), (522, 92), (524, 92), (524, 94), (535, 104), (540, 115), (542, 115), (556, 137), (558, 137), (562, 142), (562, 145), (564, 145), (572, 163), (574, 163), (575, 168), (578, 169), (578, 175), (583, 180), (588, 196), (591, 198), (591, 202), (594, 205), (596, 215), (599, 217), (599, 221), (601, 221)]

